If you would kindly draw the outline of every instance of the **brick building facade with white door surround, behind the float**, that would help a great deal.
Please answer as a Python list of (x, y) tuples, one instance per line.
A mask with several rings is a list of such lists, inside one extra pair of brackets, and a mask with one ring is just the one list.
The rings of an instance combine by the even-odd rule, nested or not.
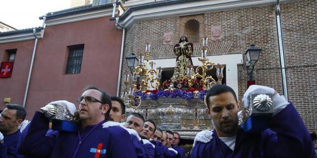
[[(279, 43), (274, 0), (182, 0), (140, 2), (129, 0), (119, 24), (126, 29), (124, 57), (145, 52), (151, 42), (151, 61), (164, 70), (173, 70), (173, 45), (181, 35), (194, 44), (194, 66), (201, 63), (203, 37), (209, 38), (208, 58), (226, 66), (226, 84), (241, 101), (247, 89), (246, 56), (251, 44), (262, 49), (253, 72), (256, 84), (282, 91)], [(144, 1), (143, 1), (144, 2)], [(281, 0), (288, 99), (294, 103), (310, 131), (317, 130), (316, 9), (314, 0)], [(123, 62), (123, 71), (129, 72)], [(123, 78), (124, 74), (121, 75)], [(121, 80), (121, 91), (124, 84)]]

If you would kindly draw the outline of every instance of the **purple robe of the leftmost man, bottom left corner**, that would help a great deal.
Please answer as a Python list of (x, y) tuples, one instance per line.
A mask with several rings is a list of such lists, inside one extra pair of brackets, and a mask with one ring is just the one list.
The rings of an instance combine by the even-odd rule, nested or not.
[(0, 158), (24, 158), (17, 150), (20, 135), (20, 130), (8, 135), (3, 134), (4, 143), (0, 143)]

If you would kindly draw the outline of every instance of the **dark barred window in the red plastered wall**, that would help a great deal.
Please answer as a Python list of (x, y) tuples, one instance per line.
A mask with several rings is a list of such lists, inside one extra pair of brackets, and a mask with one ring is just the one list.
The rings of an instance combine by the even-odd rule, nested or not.
[(68, 50), (65, 74), (79, 74), (83, 59), (84, 44), (68, 46)]

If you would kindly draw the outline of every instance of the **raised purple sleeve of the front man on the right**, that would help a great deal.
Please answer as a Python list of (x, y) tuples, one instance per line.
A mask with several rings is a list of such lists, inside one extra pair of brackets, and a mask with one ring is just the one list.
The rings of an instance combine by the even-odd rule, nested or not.
[(276, 148), (267, 147), (269, 150), (275, 150), (275, 153), (280, 153), (285, 158), (313, 157), (311, 136), (292, 103), (276, 114), (269, 123), (269, 128), (277, 134)]

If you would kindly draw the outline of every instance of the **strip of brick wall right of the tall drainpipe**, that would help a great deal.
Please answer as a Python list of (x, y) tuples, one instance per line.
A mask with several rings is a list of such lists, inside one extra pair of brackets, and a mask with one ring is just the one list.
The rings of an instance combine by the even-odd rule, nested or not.
[(317, 1), (281, 5), (289, 100), (317, 130)]

